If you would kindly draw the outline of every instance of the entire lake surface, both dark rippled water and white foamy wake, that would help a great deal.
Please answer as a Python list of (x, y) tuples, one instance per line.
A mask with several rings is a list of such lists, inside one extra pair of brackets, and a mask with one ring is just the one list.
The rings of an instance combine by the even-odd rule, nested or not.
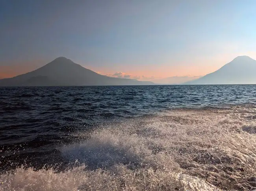
[(256, 85), (0, 87), (0, 191), (250, 190), (255, 104)]

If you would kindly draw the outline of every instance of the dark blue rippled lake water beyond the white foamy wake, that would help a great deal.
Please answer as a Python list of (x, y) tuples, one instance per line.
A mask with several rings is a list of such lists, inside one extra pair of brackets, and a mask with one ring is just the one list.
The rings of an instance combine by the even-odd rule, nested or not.
[(246, 104), (256, 104), (256, 85), (0, 87), (0, 169), (63, 162), (57, 147), (107, 123)]

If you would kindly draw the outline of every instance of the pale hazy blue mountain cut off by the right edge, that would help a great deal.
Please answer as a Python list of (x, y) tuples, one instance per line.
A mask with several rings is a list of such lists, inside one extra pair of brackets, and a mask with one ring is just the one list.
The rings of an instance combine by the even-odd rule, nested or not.
[(237, 56), (217, 71), (184, 84), (256, 84), (256, 60)]

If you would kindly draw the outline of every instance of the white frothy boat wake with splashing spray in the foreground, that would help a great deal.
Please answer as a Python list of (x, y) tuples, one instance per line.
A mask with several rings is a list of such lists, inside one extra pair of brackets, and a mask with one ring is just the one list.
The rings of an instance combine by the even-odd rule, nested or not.
[(63, 171), (17, 168), (0, 191), (251, 190), (256, 187), (256, 110), (175, 109), (88, 132), (59, 150)]

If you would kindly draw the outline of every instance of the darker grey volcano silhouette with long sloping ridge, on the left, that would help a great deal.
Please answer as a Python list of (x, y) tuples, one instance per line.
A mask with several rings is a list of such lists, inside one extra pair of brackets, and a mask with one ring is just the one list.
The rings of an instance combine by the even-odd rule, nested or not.
[(32, 72), (0, 80), (0, 86), (58, 85), (154, 85), (154, 83), (100, 75), (65, 57), (56, 58)]

